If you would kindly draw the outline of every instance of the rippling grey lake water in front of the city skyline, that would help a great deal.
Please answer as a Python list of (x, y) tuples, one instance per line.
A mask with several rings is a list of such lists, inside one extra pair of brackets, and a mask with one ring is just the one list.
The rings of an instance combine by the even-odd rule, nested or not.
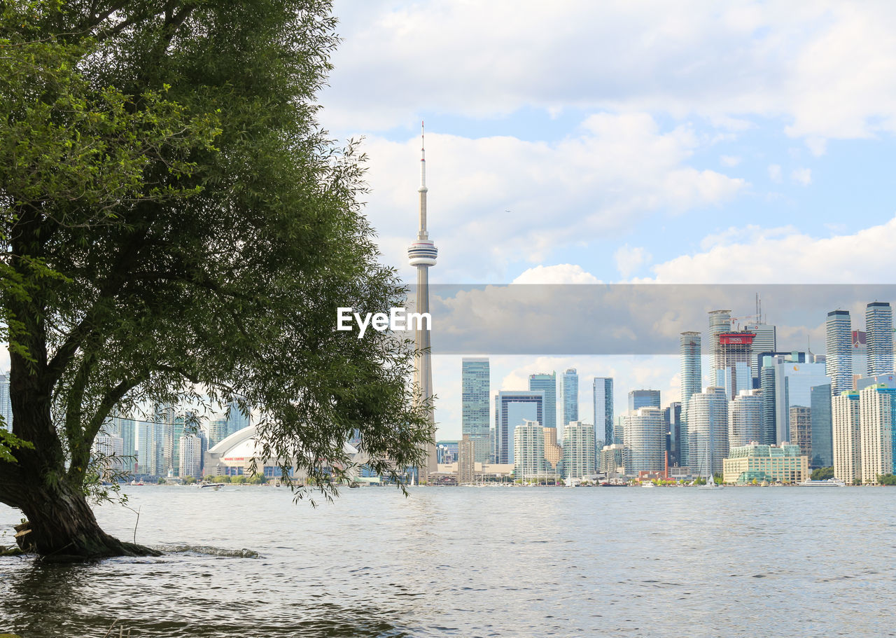
[[(896, 489), (128, 492), (137, 541), (175, 551), (0, 558), (0, 634), (896, 635)], [(132, 539), (134, 513), (98, 517)], [(0, 543), (18, 520), (0, 508)]]

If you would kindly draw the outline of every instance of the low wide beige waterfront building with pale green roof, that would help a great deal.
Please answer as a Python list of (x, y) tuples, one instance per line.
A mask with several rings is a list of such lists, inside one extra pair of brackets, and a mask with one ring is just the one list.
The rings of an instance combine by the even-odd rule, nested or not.
[(726, 483), (799, 483), (809, 478), (809, 457), (799, 445), (751, 443), (731, 448), (723, 461), (722, 480)]

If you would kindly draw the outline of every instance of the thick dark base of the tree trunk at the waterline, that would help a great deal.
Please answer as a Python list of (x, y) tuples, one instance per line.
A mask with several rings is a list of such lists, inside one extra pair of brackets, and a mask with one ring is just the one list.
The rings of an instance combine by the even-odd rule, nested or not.
[(100, 529), (84, 496), (65, 483), (50, 489), (30, 487), (19, 504), (30, 531), (16, 539), (25, 551), (45, 561), (76, 561), (110, 556), (159, 556), (150, 547), (126, 543)]

